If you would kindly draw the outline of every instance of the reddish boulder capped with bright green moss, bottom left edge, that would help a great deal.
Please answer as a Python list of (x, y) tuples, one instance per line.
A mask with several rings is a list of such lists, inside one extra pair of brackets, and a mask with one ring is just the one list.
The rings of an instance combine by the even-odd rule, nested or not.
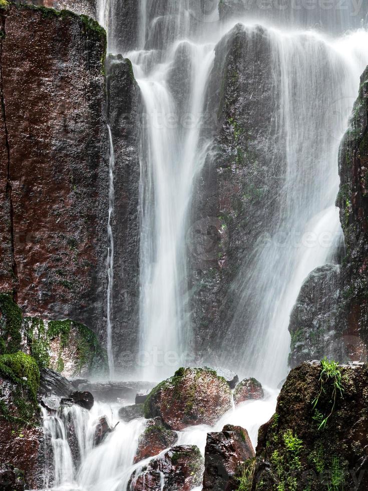
[(30, 355), (17, 352), (0, 356), (0, 462), (21, 469), (27, 489), (42, 487), (45, 468), (37, 403), (39, 383), (39, 367)]

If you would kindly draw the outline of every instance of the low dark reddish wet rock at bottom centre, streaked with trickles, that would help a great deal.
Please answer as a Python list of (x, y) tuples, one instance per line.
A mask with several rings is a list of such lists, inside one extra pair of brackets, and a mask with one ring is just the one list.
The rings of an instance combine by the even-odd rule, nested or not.
[[(202, 483), (203, 457), (195, 445), (170, 448), (131, 477), (130, 491), (189, 491)], [(163, 482), (162, 482), (163, 481)]]

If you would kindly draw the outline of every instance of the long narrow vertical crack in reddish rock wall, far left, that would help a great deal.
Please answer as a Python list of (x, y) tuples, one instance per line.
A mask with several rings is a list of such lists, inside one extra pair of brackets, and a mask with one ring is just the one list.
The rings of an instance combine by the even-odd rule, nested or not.
[[(2, 16), (2, 32), (1, 32), (1, 37), (2, 39), (5, 39), (6, 37), (6, 29), (5, 29), (5, 23), (6, 23), (6, 17), (3, 15)], [(4, 114), (4, 128), (5, 128), (5, 145), (7, 148), (7, 155), (8, 155), (8, 169), (7, 169), (7, 185), (6, 185), (6, 196), (7, 199), (9, 199), (9, 206), (10, 206), (10, 233), (11, 233), (11, 251), (12, 251), (12, 272), (13, 272), (13, 279), (16, 280), (16, 284), (18, 283), (18, 267), (17, 267), (17, 262), (16, 262), (16, 256), (15, 256), (15, 237), (14, 237), (14, 210), (13, 210), (13, 200), (12, 200), (12, 182), (11, 182), (11, 176), (10, 176), (10, 144), (9, 144), (9, 133), (8, 133), (8, 126), (7, 126), (7, 113), (6, 113), (6, 106), (5, 106), (5, 97), (4, 97), (4, 80), (3, 80), (3, 42), (0, 43), (0, 93), (1, 93), (1, 105), (2, 105), (2, 111)], [(13, 283), (13, 296), (14, 299), (17, 300), (17, 288), (16, 284)]]

